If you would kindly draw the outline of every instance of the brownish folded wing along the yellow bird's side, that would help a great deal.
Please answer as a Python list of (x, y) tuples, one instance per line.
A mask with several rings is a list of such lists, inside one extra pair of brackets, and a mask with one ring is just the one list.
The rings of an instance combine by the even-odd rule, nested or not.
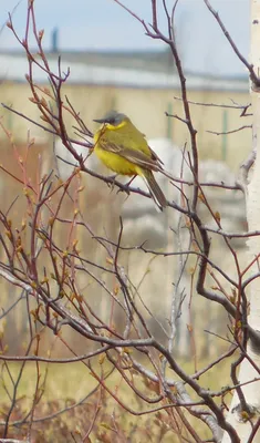
[[(144, 167), (145, 169), (150, 169), (150, 171), (162, 171), (162, 167), (159, 165), (159, 158), (157, 155), (152, 151), (153, 157), (149, 158), (146, 154), (144, 154), (142, 151), (133, 150), (131, 147), (125, 147), (121, 144), (115, 144), (113, 142), (106, 142), (104, 140), (98, 142), (100, 146), (107, 152), (111, 152), (113, 154), (117, 154), (121, 157), (127, 159), (128, 162), (133, 163), (136, 166)], [(162, 162), (160, 162), (162, 163)]]

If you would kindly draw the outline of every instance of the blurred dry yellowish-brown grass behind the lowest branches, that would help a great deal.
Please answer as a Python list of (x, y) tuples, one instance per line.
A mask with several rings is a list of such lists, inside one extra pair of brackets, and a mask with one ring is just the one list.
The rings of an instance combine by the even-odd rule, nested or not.
[[(207, 364), (201, 361), (200, 365)], [(105, 362), (97, 363), (96, 371), (108, 371), (108, 364)], [(183, 367), (193, 372), (191, 362), (183, 362)], [(13, 382), (19, 375), (21, 365), (18, 363), (9, 363), (8, 367), (3, 363), (1, 369), (2, 383), (0, 389), (1, 413), (0, 422), (6, 420), (6, 414), (10, 408), (10, 398), (13, 396)], [(222, 385), (228, 384), (229, 365), (227, 362), (221, 363), (218, 368), (214, 368), (207, 374), (200, 378), (201, 385), (210, 387), (212, 390), (219, 390)], [(38, 374), (40, 373), (40, 379)], [(221, 378), (219, 374), (221, 373)], [(173, 378), (173, 372), (169, 371), (169, 377)], [(39, 380), (39, 385), (37, 381)], [(145, 394), (153, 398), (156, 395), (155, 385), (150, 383), (144, 384), (144, 380), (139, 375), (135, 379), (136, 387)], [(83, 436), (92, 426), (92, 420), (96, 414), (95, 423), (90, 433), (90, 441), (95, 442), (179, 442), (179, 437), (175, 435), (174, 429), (180, 426), (177, 411), (168, 414), (167, 410), (150, 414), (135, 416), (125, 411), (118, 403), (115, 402), (103, 389), (97, 389), (96, 393), (83, 402), (81, 405), (74, 406), (75, 403), (84, 399), (97, 383), (90, 374), (90, 370), (83, 363), (70, 364), (45, 364), (40, 363), (39, 370), (35, 363), (27, 363), (23, 370), (21, 380), (18, 385), (15, 406), (11, 414), (11, 422), (22, 420), (31, 410), (35, 395), (42, 395), (39, 404), (35, 406), (33, 418), (43, 419), (52, 414), (56, 414), (50, 420), (40, 421), (32, 425), (32, 442), (73, 442), (82, 441)], [(149, 410), (156, 405), (145, 404), (143, 401), (129, 390), (125, 382), (113, 373), (106, 382), (106, 385), (112, 392), (117, 393), (121, 401), (128, 408), (141, 412)], [(62, 414), (58, 411), (67, 406), (69, 409)], [(96, 412), (97, 410), (98, 412)], [(186, 413), (189, 422), (194, 424), (195, 430), (200, 433), (201, 437), (209, 437), (207, 429), (202, 424)], [(174, 419), (173, 419), (174, 418)], [(30, 415), (29, 415), (30, 420)], [(173, 422), (173, 420), (175, 422)], [(199, 426), (199, 427), (198, 427)], [(1, 426), (2, 429), (3, 426)], [(10, 427), (9, 437), (21, 437), (27, 434), (28, 424), (22, 427)], [(186, 434), (183, 430), (183, 435)], [(64, 440), (65, 439), (65, 440)], [(73, 440), (75, 439), (75, 440)], [(87, 441), (87, 440), (86, 440)], [(184, 440), (181, 440), (184, 441)], [(193, 440), (189, 440), (193, 441)]]

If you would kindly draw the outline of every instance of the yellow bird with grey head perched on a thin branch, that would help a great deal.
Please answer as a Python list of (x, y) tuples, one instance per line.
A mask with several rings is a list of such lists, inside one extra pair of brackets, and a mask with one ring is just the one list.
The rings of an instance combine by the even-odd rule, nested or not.
[(116, 111), (108, 112), (103, 119), (94, 120), (102, 126), (94, 134), (94, 152), (112, 171), (119, 175), (139, 175), (150, 195), (163, 210), (167, 200), (153, 172), (162, 172), (163, 162), (148, 146), (148, 143), (131, 120)]

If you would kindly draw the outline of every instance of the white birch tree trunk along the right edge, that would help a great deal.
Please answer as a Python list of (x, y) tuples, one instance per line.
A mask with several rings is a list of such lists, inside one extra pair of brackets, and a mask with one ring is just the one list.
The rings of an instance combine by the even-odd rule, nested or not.
[[(251, 63), (254, 72), (260, 75), (260, 0), (251, 0)], [(253, 173), (248, 185), (247, 193), (247, 218), (248, 229), (260, 229), (260, 89), (251, 84), (251, 103), (253, 113), (252, 143), (257, 152), (257, 159), (253, 166)], [(247, 241), (248, 262), (251, 262), (260, 254), (260, 237), (250, 237)], [(259, 272), (259, 260), (250, 268), (251, 275)], [(249, 277), (249, 274), (247, 275)], [(257, 331), (260, 331), (260, 279), (256, 278), (247, 288), (248, 300), (250, 300), (249, 324)], [(256, 365), (260, 367), (260, 350), (253, 349), (252, 343), (248, 343), (248, 356)], [(250, 362), (245, 359), (240, 367), (239, 382), (247, 382), (259, 378), (259, 373), (252, 368)], [(252, 411), (251, 423), (259, 419), (260, 409), (260, 382), (253, 382), (242, 388), (245, 400)], [(235, 393), (228, 421), (236, 429), (241, 442), (247, 442), (252, 431), (251, 423), (247, 420), (247, 414), (241, 411), (237, 393)], [(260, 429), (258, 430), (253, 442), (260, 440)], [(222, 443), (230, 442), (227, 434), (223, 435)]]

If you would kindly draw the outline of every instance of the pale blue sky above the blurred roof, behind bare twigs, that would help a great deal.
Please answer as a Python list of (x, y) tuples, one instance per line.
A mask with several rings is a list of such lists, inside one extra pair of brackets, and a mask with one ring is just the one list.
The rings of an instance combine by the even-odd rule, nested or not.
[[(150, 0), (121, 0), (138, 17), (150, 22)], [(166, 0), (173, 6), (174, 0)], [(28, 0), (0, 0), (0, 50), (18, 49), (11, 31), (4, 27), (13, 9), (13, 23), (24, 34)], [(165, 49), (145, 35), (144, 29), (115, 0), (34, 0), (39, 29), (44, 29), (44, 47), (50, 49), (51, 33), (59, 29), (61, 50)], [(157, 0), (159, 24), (166, 32), (163, 2)], [(249, 0), (211, 0), (241, 53), (248, 58), (250, 37)], [(233, 54), (204, 0), (179, 0), (175, 27), (186, 70), (214, 74), (243, 74), (241, 62)]]

